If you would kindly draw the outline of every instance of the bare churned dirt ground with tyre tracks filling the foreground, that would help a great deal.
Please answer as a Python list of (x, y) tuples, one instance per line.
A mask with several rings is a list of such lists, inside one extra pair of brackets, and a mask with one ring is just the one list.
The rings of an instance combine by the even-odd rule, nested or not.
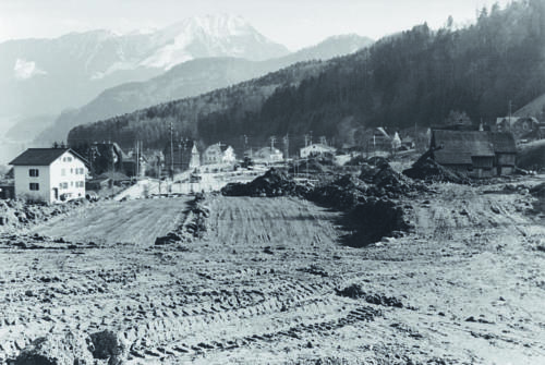
[[(153, 246), (175, 226), (169, 199), (33, 230), (96, 247), (4, 240), (0, 363), (69, 329), (119, 332), (130, 364), (545, 363), (545, 227), (530, 197), (434, 188), (407, 202), (413, 233), (363, 248), (340, 244), (339, 212), (287, 197), (208, 197), (208, 232), (187, 251)], [(352, 284), (364, 295), (340, 295)]]

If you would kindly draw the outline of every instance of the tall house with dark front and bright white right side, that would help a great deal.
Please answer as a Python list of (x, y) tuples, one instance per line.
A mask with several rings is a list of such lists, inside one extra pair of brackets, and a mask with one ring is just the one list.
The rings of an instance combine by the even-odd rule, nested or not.
[(169, 142), (162, 149), (162, 155), (165, 156), (165, 168), (167, 170), (173, 168), (174, 172), (182, 172), (201, 166), (201, 154), (194, 141), (174, 141), (172, 146)]

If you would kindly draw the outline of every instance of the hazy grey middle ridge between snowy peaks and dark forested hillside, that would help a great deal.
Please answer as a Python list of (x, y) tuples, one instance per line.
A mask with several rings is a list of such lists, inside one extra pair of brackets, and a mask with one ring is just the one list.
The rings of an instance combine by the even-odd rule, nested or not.
[[(366, 37), (343, 35), (334, 36), (316, 46), (265, 61), (242, 58), (201, 58), (186, 61), (148, 81), (125, 83), (108, 88), (85, 106), (65, 110), (53, 124), (39, 133), (36, 142), (49, 144), (53, 141), (64, 141), (70, 129), (76, 125), (121, 115), (160, 102), (197, 96), (298, 62), (328, 60), (349, 54), (372, 42)], [(8, 132), (8, 136), (15, 136), (24, 130), (28, 127), (16, 125)], [(25, 135), (28, 136), (28, 133)]]

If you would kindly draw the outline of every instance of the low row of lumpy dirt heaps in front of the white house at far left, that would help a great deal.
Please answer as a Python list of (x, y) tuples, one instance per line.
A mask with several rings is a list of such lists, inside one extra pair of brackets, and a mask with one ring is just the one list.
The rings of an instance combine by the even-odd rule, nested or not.
[(53, 205), (19, 199), (0, 200), (0, 227), (22, 228), (41, 223), (85, 204), (88, 204), (85, 199)]

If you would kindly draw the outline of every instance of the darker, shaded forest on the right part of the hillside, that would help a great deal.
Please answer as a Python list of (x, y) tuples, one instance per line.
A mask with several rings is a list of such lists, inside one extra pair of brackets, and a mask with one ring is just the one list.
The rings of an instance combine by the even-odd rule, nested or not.
[(318, 76), (277, 89), (256, 113), (237, 108), (199, 120), (203, 135), (336, 135), (360, 127), (441, 123), (453, 110), (472, 121), (506, 115), (545, 93), (545, 1), (483, 9), (477, 22), (432, 32), (424, 24), (331, 62)]

